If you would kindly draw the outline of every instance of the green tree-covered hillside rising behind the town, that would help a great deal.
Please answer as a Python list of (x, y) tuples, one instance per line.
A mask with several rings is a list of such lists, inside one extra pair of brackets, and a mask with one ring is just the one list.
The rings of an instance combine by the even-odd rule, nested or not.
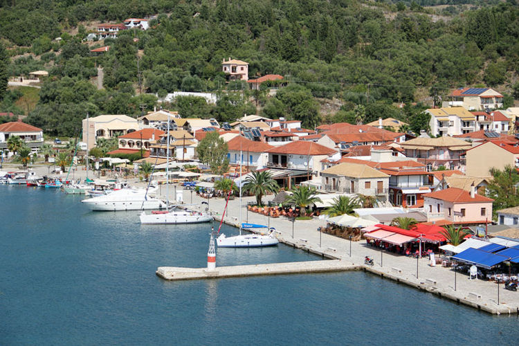
[[(327, 121), (354, 121), (358, 105), (365, 122), (379, 116), (410, 120), (423, 104), (403, 111), (392, 104), (430, 105), (457, 86), (492, 86), (511, 104), (519, 71), (519, 7), (515, 1), (487, 3), (0, 1), (0, 35), (11, 75), (50, 72), (28, 121), (55, 134), (72, 134), (86, 111), (137, 115), (143, 105), (152, 109), (156, 98), (139, 95), (139, 85), (143, 93), (159, 95), (221, 93), (216, 106), (189, 98), (171, 105), (191, 116), (229, 121), (261, 110), (313, 127), (325, 116), (316, 98), (343, 104)], [(438, 4), (446, 6), (422, 7)], [(93, 46), (82, 41), (87, 28), (100, 22), (149, 15), (157, 15), (149, 30), (125, 30)], [(91, 56), (89, 49), (102, 45), (111, 48)], [(228, 57), (248, 62), (251, 78), (275, 73), (290, 85), (275, 98), (265, 91), (239, 92), (246, 85), (226, 84), (221, 73), (221, 60)], [(97, 66), (104, 69), (103, 90), (91, 81)]]

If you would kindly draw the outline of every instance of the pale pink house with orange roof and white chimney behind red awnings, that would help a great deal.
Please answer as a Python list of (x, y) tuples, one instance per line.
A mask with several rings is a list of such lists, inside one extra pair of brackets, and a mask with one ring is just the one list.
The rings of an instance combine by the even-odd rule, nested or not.
[(448, 188), (424, 194), (427, 221), (447, 221), (446, 224), (485, 224), (492, 221), (493, 199), (459, 188)]

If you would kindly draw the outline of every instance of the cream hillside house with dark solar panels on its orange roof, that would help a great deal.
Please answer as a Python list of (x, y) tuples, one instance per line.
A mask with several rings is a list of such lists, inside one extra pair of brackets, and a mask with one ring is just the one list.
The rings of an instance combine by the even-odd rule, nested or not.
[(503, 95), (490, 88), (455, 89), (443, 107), (464, 107), (469, 111), (484, 111), (503, 107)]

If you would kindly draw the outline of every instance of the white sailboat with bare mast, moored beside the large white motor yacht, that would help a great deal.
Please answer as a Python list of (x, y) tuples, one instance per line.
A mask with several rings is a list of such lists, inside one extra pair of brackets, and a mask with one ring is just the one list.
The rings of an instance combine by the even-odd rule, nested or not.
[(188, 210), (185, 206), (170, 207), (170, 116), (167, 116), (167, 145), (166, 145), (166, 210), (152, 211), (151, 214), (142, 212), (139, 215), (140, 224), (198, 224), (209, 222), (212, 216), (208, 212)]

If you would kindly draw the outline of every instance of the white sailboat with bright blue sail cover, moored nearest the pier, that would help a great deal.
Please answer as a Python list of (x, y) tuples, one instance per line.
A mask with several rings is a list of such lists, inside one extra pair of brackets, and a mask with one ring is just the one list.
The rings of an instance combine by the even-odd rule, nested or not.
[[(239, 162), (239, 235), (235, 235), (233, 237), (226, 237), (224, 233), (221, 233), (219, 237), (217, 237), (217, 246), (219, 248), (255, 248), (260, 246), (273, 246), (279, 243), (279, 240), (275, 237), (275, 230), (271, 228), (267, 235), (258, 235), (258, 234), (243, 234), (242, 228), (243, 226), (252, 225), (248, 228), (259, 228), (265, 227), (263, 225), (253, 225), (253, 224), (242, 224), (242, 163), (243, 163), (243, 155), (242, 149), (239, 151), (240, 162)], [(224, 211), (225, 212), (225, 211)]]

